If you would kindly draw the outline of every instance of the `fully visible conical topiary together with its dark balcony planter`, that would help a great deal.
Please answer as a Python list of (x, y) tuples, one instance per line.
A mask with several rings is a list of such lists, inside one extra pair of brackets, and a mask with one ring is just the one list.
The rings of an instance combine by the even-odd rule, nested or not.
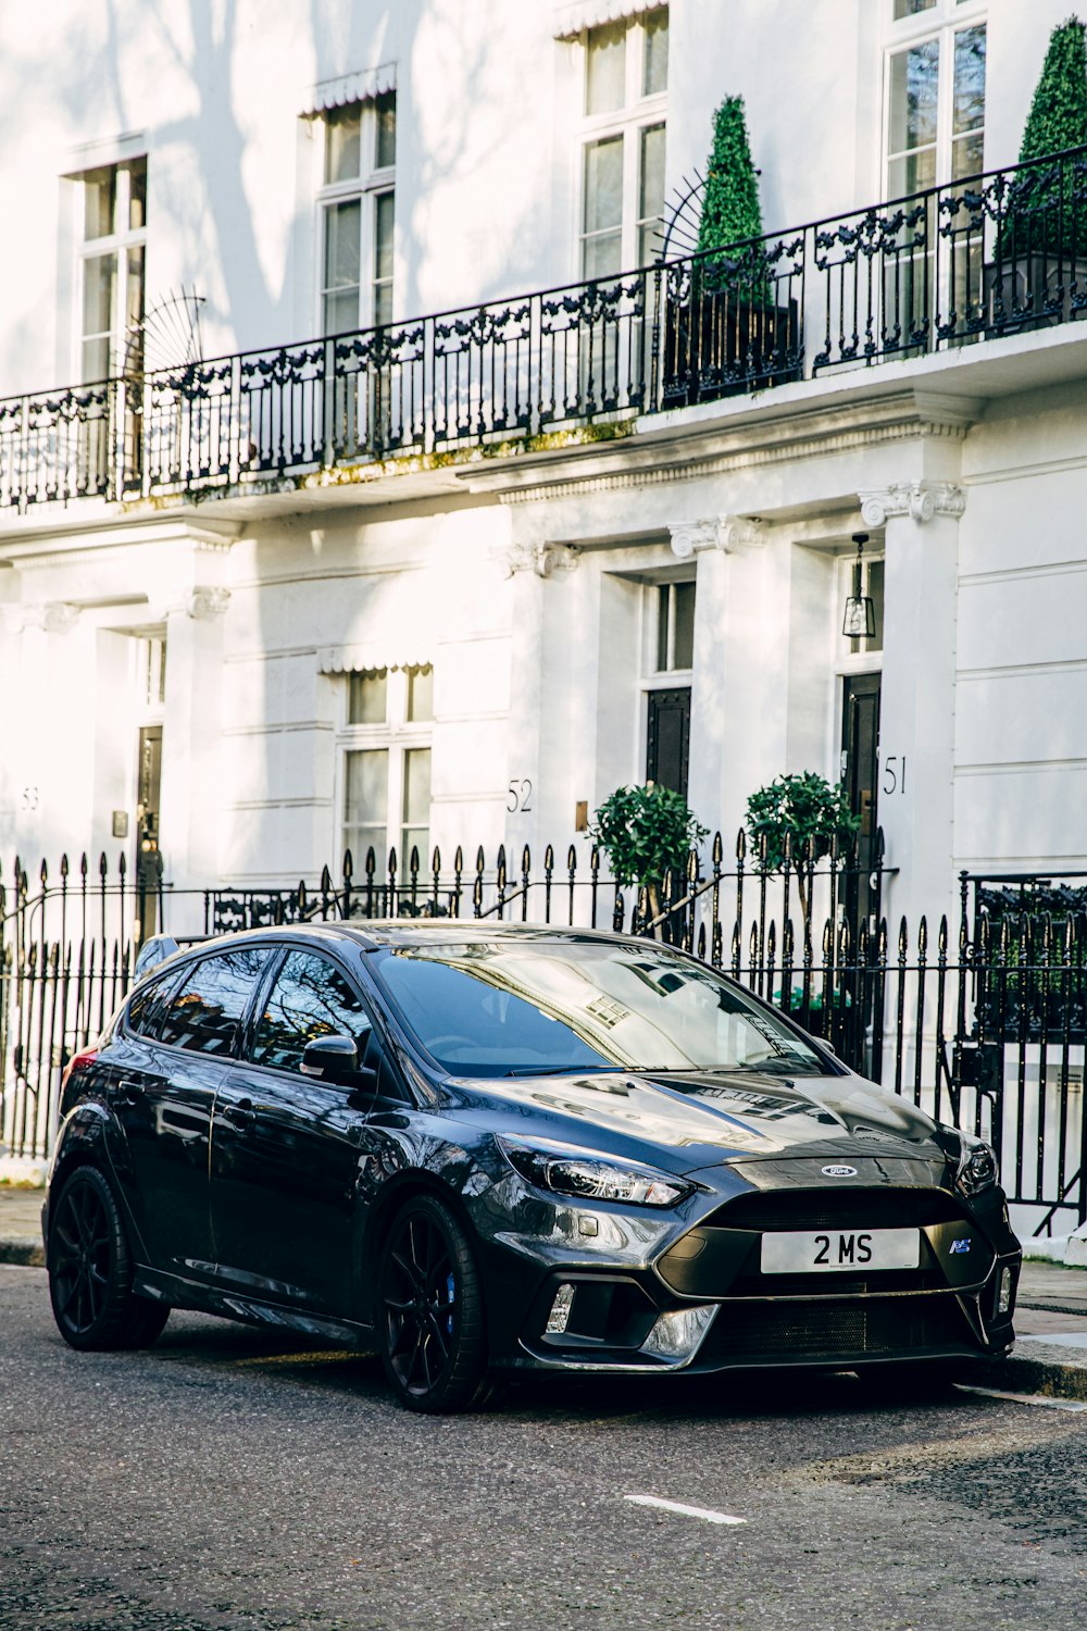
[(694, 259), (670, 274), (665, 401), (709, 401), (795, 370), (797, 305), (776, 303), (742, 96), (714, 114)]

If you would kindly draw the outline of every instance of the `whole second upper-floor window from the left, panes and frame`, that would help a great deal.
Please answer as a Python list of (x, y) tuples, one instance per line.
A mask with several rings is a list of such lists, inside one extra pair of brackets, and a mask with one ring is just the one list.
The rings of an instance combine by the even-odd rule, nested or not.
[(393, 318), (396, 93), (324, 117), (321, 328), (344, 334)]

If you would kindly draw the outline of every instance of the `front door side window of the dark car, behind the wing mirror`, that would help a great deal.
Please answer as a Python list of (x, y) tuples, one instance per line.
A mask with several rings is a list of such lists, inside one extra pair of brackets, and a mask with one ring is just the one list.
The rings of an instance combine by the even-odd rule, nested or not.
[(370, 1031), (370, 1013), (336, 964), (313, 951), (292, 951), (254, 1026), (249, 1059), (298, 1070), (306, 1042), (350, 1036), (362, 1063)]

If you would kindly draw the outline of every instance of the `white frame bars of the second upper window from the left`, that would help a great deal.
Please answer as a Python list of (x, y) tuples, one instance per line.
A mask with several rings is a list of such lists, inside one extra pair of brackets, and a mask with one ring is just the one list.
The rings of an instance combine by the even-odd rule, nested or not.
[[(319, 139), (316, 142), (318, 189), (316, 189), (316, 331), (328, 338), (331, 334), (352, 334), (378, 326), (378, 287), (388, 285), (388, 315), (383, 323), (394, 320), (396, 298), (396, 150), (393, 163), (378, 165), (378, 137), (381, 104), (391, 101), (396, 109), (396, 91), (383, 91), (357, 103), (345, 103), (342, 108), (329, 108), (318, 119)], [(326, 181), (329, 130), (336, 116), (359, 111), (359, 175), (345, 176), (341, 181)], [(391, 271), (388, 277), (378, 277), (378, 214), (380, 201), (393, 199), (393, 227), (389, 240)], [(331, 212), (341, 204), (359, 201), (359, 321), (355, 328), (329, 326), (328, 302), (334, 294), (334, 285), (326, 284), (328, 274), (328, 222)], [(344, 290), (350, 284), (341, 285)]]

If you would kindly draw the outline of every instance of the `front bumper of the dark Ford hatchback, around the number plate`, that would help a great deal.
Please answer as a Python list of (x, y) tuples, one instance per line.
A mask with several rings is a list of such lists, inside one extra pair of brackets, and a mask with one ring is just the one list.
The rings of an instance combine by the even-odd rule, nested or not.
[[(792, 1218), (786, 1205), (786, 1215), (769, 1222), (803, 1227), (805, 1192), (786, 1194), (797, 1197)], [(662, 1218), (655, 1230), (639, 1218), (644, 1253), (601, 1253), (603, 1261), (592, 1261), (574, 1244), (574, 1212), (561, 1231), (566, 1249), (543, 1253), (546, 1267), (536, 1240), (531, 1254), (541, 1272), (528, 1300), (518, 1300), (520, 1323), (507, 1329), (512, 1341), (492, 1346), (495, 1364), (616, 1373), (856, 1370), (888, 1360), (999, 1359), (1012, 1346), (1022, 1254), (999, 1191), (979, 1209), (937, 1189), (882, 1194), (872, 1227), (916, 1223), (921, 1262), (914, 1271), (867, 1275), (763, 1274), (759, 1243), (769, 1230), (755, 1227), (758, 1205), (745, 1210), (751, 1194), (738, 1197), (743, 1227), (737, 1228), (727, 1227), (733, 1202), (715, 1197), (706, 1205), (707, 1199), (698, 1218)], [(781, 1209), (781, 1194), (755, 1199), (776, 1199)], [(807, 1199), (825, 1194), (808, 1191)], [(854, 1192), (844, 1218), (862, 1217), (869, 1202)], [(611, 1220), (613, 1238), (623, 1233), (619, 1225)], [(507, 1235), (505, 1243), (513, 1240)], [(528, 1251), (526, 1241), (520, 1244)]]

